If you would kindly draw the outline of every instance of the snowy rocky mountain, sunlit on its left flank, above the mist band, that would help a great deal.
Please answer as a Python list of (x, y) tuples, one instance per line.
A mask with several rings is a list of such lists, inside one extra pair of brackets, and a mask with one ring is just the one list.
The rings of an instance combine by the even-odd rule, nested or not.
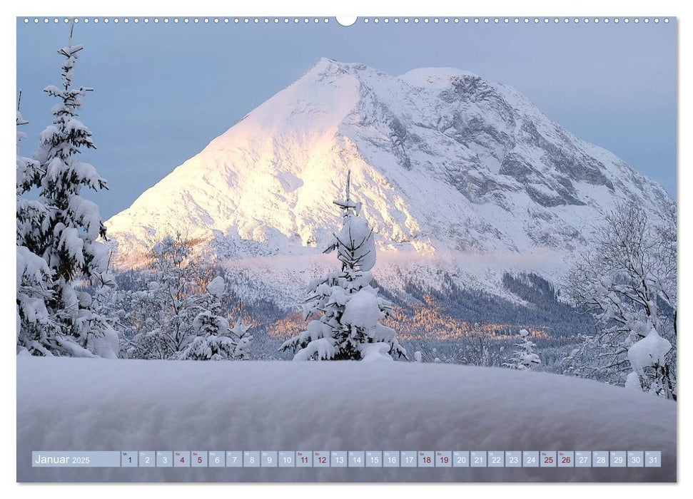
[(349, 169), (380, 259), (560, 267), (617, 202), (653, 214), (672, 202), (510, 86), (323, 58), (108, 220), (108, 235), (121, 265), (175, 232), (251, 267), (310, 262), (338, 229)]

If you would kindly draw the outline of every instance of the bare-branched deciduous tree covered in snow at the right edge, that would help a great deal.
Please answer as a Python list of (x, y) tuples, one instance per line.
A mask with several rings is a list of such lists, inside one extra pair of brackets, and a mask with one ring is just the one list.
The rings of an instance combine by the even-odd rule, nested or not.
[(675, 205), (663, 215), (652, 220), (637, 205), (619, 205), (572, 269), (572, 299), (599, 329), (567, 356), (566, 374), (676, 398)]

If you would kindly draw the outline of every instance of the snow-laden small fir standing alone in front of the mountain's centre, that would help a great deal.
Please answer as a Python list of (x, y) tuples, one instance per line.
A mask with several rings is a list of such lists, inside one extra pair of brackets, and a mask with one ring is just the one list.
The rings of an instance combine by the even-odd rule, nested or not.
[(380, 324), (392, 304), (371, 285), (375, 240), (373, 230), (360, 216), (360, 202), (351, 200), (350, 176), (349, 172), (345, 200), (334, 202), (342, 210), (342, 228), (325, 249), (325, 253), (336, 250), (342, 269), (310, 282), (303, 319), (319, 317), (280, 347), (295, 351), (297, 361), (406, 358), (395, 331)]

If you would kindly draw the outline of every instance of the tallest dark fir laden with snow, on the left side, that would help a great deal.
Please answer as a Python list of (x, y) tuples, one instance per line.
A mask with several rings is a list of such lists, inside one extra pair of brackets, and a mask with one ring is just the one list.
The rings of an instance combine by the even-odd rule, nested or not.
[[(50, 286), (44, 290), (46, 321), (27, 319), (19, 334), (19, 351), (34, 355), (111, 357), (117, 344), (115, 331), (95, 312), (91, 294), (77, 289), (80, 284), (101, 287), (112, 283), (108, 251), (98, 242), (99, 237), (106, 237), (106, 227), (98, 206), (80, 195), (82, 187), (106, 188), (106, 180), (93, 166), (76, 159), (81, 148), (95, 148), (91, 131), (76, 118), (81, 96), (91, 91), (72, 85), (81, 50), (81, 45), (72, 43), (71, 31), (67, 46), (58, 51), (64, 57), (61, 86), (44, 88), (59, 101), (52, 110), (53, 123), (40, 135), (36, 161), (18, 162), (18, 194), (35, 189), (39, 197), (24, 202), (21, 210), (18, 201), (18, 246), (26, 248), (19, 250), (23, 252), (21, 266), (26, 269), (26, 258), (34, 254), (49, 269), (48, 273), (40, 271), (44, 284), (50, 275)], [(29, 267), (36, 269), (35, 265)], [(43, 307), (39, 309), (43, 315)]]

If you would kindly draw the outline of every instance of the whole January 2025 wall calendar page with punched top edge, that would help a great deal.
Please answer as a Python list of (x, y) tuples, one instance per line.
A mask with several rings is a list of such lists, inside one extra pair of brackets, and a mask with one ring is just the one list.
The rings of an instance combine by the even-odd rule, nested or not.
[(675, 482), (677, 19), (16, 19), (16, 480)]

